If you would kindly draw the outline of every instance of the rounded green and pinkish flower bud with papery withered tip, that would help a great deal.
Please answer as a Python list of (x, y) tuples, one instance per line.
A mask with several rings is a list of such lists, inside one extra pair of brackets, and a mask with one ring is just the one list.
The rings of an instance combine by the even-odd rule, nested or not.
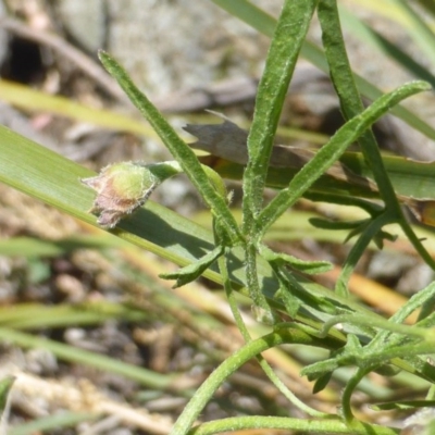
[(113, 228), (147, 201), (161, 178), (142, 162), (122, 162), (103, 167), (99, 175), (83, 178), (82, 183), (97, 191), (89, 211), (99, 214), (98, 224)]

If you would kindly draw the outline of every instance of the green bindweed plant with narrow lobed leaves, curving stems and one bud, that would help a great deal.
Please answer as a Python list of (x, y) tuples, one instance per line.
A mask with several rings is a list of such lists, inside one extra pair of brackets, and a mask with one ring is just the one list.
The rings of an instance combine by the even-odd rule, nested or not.
[[(315, 12), (322, 27), (325, 59), (346, 123), (293, 176), (288, 185), (283, 186), (274, 199), (264, 206), (263, 190), (268, 185), (268, 171), (281, 110)], [(92, 209), (98, 214), (97, 223), (123, 238), (184, 265), (177, 273), (163, 276), (175, 279), (178, 286), (196, 279), (203, 273), (209, 273), (209, 277), (222, 283), (246, 341), (245, 346), (227, 358), (198, 389), (174, 424), (172, 434), (204, 435), (253, 427), (326, 434), (399, 433), (393, 427), (360, 422), (352, 413), (352, 394), (361, 380), (374, 371), (407, 371), (428, 383), (435, 383), (435, 369), (425, 358), (434, 352), (435, 345), (435, 316), (432, 312), (435, 285), (421, 290), (386, 320), (349, 297), (348, 281), (369, 244), (375, 240), (382, 245), (383, 238), (390, 237), (383, 229), (390, 223), (401, 226), (415, 250), (435, 269), (433, 259), (402, 214), (375, 138), (370, 130), (374, 122), (400, 101), (428, 90), (430, 85), (425, 82), (408, 83), (381, 96), (364, 109), (347, 60), (336, 0), (286, 0), (273, 34), (247, 139), (248, 161), (243, 175), (243, 224), (239, 226), (232, 214), (228, 195), (220, 175), (201, 164), (191, 148), (177, 136), (115, 60), (105, 52), (100, 52), (100, 60), (151, 124), (175, 161), (154, 164), (117, 163), (104, 169), (97, 176), (90, 176), (91, 174), (84, 169), (72, 170), (74, 174), (79, 173), (87, 187), (97, 191)], [(14, 137), (12, 133), (3, 132), (3, 135), (11, 140)], [(322, 200), (361, 207), (369, 211), (370, 215), (366, 221), (350, 227), (350, 236), (355, 237), (356, 241), (343, 266), (335, 291), (328, 291), (302, 279), (299, 272), (318, 274), (330, 270), (332, 264), (324, 261), (302, 261), (275, 252), (264, 245), (263, 239), (271, 225), (298, 199), (310, 195), (312, 185), (338, 161), (349, 145), (356, 141), (371, 170), (383, 206), (343, 195), (328, 196), (326, 192), (322, 196)], [(95, 224), (95, 216), (85, 212), (90, 206), (90, 190), (78, 186), (76, 178), (69, 178), (67, 170), (74, 164), (49, 154), (53, 162), (61, 162), (64, 169), (62, 173), (55, 173), (54, 178), (49, 178), (41, 175), (42, 163), (30, 164), (26, 161), (25, 150), (34, 145), (24, 139), (21, 139), (21, 144), (22, 160), (18, 162), (18, 153), (14, 154), (11, 151), (8, 154), (9, 161), (0, 164), (2, 179)], [(48, 156), (47, 151), (41, 152)], [(26, 165), (32, 167), (32, 171), (25, 179), (16, 179), (8, 172), (8, 164)], [(185, 221), (174, 213), (163, 211), (157, 204), (147, 203), (145, 209), (140, 208), (159, 184), (178, 173), (185, 173), (189, 177), (210, 208), (213, 217), (212, 237), (203, 231), (199, 231), (196, 238), (192, 235), (188, 236), (184, 229)], [(47, 185), (55, 184), (57, 176), (61, 177), (62, 183), (59, 185), (66, 182), (76, 183), (77, 186), (70, 189), (67, 195), (61, 188), (51, 186), (52, 188), (48, 189)], [(69, 206), (69, 201), (75, 201), (83, 210), (77, 212), (77, 208)], [(126, 216), (128, 219), (124, 220)], [(163, 229), (159, 231), (160, 228)], [(174, 241), (167, 239), (167, 234), (175, 237), (182, 248), (175, 249)], [(240, 263), (244, 265), (241, 273)], [(257, 339), (251, 338), (237, 307), (235, 291), (249, 295), (256, 319), (272, 327), (270, 334)], [(406, 325), (406, 319), (419, 309), (421, 311), (418, 323), (412, 326)], [(293, 319), (291, 322), (283, 321), (289, 318)], [(330, 351), (328, 359), (308, 365), (301, 372), (301, 375), (315, 381), (315, 391), (325, 388), (337, 369), (356, 368), (343, 391), (337, 414), (320, 412), (298, 399), (262, 359), (262, 351), (282, 344), (314, 346)], [(251, 358), (258, 359), (271, 382), (308, 418), (244, 417), (208, 422), (194, 427), (216, 389)], [(432, 403), (432, 395), (433, 391), (430, 390), (427, 405)]]

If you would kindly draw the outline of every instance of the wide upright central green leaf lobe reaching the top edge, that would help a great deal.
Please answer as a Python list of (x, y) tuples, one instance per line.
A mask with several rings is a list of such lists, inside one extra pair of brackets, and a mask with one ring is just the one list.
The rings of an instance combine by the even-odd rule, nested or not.
[(249, 162), (244, 177), (244, 231), (253, 223), (263, 201), (273, 140), (302, 42), (316, 0), (284, 2), (262, 74), (248, 136)]

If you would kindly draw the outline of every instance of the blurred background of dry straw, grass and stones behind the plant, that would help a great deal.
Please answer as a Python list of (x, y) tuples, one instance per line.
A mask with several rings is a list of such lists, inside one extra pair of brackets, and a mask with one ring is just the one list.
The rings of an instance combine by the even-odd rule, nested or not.
[[(254, 3), (275, 17), (282, 5)], [(339, 1), (353, 70), (384, 91), (412, 78), (434, 84), (432, 4)], [(185, 123), (219, 122), (206, 109), (249, 127), (269, 38), (213, 2), (4, 0), (0, 16), (1, 123), (89, 169), (170, 158), (99, 65), (99, 48), (125, 66), (187, 140), (194, 139), (181, 129)], [(310, 41), (320, 44), (320, 37), (314, 20)], [(426, 92), (406, 105), (433, 125), (434, 102)], [(319, 147), (341, 121), (328, 77), (301, 59), (277, 142)], [(433, 138), (393, 115), (375, 133), (386, 153), (435, 160)], [(241, 194), (237, 183), (229, 186), (237, 214)], [(183, 177), (165, 182), (152, 199), (210, 226), (209, 212)], [(316, 277), (332, 287), (349, 250), (346, 232), (314, 228), (308, 220), (346, 221), (358, 213), (303, 200), (268, 240), (306, 260), (332, 261), (335, 269)], [(435, 254), (431, 228), (419, 234)], [(158, 277), (173, 264), (4, 185), (0, 237), (0, 376), (16, 376), (8, 433), (165, 434), (204, 377), (243, 344), (215, 284), (203, 278), (174, 290)], [(384, 250), (366, 252), (350, 288), (356, 300), (387, 316), (432, 281), (433, 271), (399, 235)], [(249, 300), (240, 296), (240, 304), (252, 334), (262, 334)], [(335, 373), (318, 395), (299, 377), (301, 366), (325, 355), (287, 346), (265, 357), (302, 400), (334, 412), (349, 372)], [(388, 381), (371, 374), (355, 397), (358, 418), (401, 427), (406, 411), (368, 405), (419, 399), (426, 388), (407, 374)], [(301, 417), (256, 362), (222, 386), (202, 419), (251, 414)]]

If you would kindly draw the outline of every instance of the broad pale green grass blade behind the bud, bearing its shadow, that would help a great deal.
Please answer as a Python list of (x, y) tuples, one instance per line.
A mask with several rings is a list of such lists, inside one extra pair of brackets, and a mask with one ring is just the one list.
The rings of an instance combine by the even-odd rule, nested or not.
[[(0, 154), (0, 182), (98, 226), (88, 212), (94, 194), (79, 183), (94, 172), (2, 126)], [(111, 233), (181, 265), (214, 248), (211, 232), (152, 201)]]

